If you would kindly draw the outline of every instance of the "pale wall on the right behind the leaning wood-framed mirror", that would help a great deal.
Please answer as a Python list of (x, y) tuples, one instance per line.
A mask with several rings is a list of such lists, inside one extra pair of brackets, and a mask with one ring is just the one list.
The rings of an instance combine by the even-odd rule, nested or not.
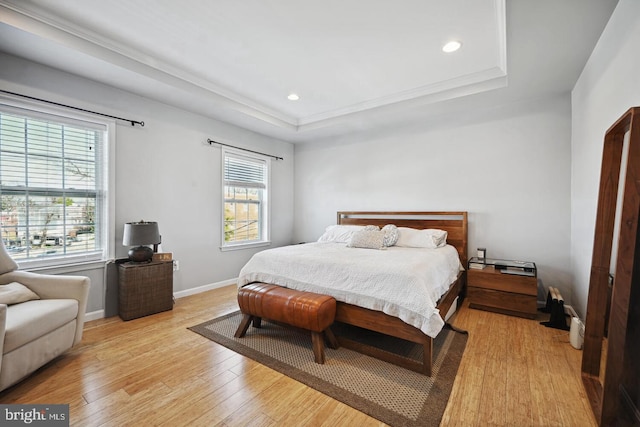
[(606, 130), (640, 106), (640, 1), (620, 0), (572, 92), (571, 270), (584, 319)]

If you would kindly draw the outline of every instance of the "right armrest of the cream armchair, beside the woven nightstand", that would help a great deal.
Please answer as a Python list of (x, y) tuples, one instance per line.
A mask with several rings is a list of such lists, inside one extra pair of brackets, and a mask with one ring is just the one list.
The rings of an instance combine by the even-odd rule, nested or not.
[(89, 300), (89, 286), (91, 284), (88, 277), (39, 274), (20, 270), (11, 271), (0, 276), (0, 283), (7, 284), (11, 282), (18, 282), (25, 285), (38, 294), (41, 299), (77, 300), (78, 319), (73, 344), (75, 345), (80, 342), (84, 327), (84, 316)]

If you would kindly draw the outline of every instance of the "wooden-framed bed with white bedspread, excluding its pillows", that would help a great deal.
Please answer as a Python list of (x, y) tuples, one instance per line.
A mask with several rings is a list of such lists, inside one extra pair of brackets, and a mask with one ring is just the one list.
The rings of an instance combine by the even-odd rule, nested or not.
[[(446, 257), (445, 259), (449, 260), (453, 257), (456, 258), (456, 266), (466, 266), (466, 212), (344, 211), (338, 212), (337, 214), (337, 225), (340, 226), (373, 225), (382, 228), (387, 224), (412, 229), (439, 229), (446, 231), (446, 247), (443, 247), (442, 250), (436, 249), (429, 251), (425, 249), (425, 254), (421, 253), (418, 254), (418, 256), (437, 255), (444, 256)], [(466, 285), (464, 268), (458, 267), (455, 271), (452, 271), (451, 261), (448, 261), (450, 265), (446, 274), (444, 272), (434, 273), (438, 275), (438, 280), (445, 280), (446, 283), (443, 282), (443, 284), (439, 285), (437, 291), (429, 291), (433, 295), (425, 297), (424, 299), (431, 299), (431, 302), (426, 301), (423, 304), (422, 298), (414, 298), (410, 303), (417, 305), (412, 305), (409, 308), (398, 308), (394, 301), (392, 301), (394, 295), (388, 297), (389, 301), (386, 299), (381, 301), (380, 297), (371, 295), (362, 295), (363, 298), (354, 299), (351, 297), (352, 292), (350, 290), (336, 291), (335, 289), (331, 289), (329, 282), (338, 282), (340, 278), (332, 276), (331, 270), (324, 270), (323, 272), (323, 261), (318, 261), (313, 257), (317, 254), (324, 254), (326, 251), (336, 252), (337, 255), (340, 256), (340, 251), (344, 251), (345, 255), (343, 258), (348, 257), (348, 264), (357, 267), (359, 264), (357, 264), (355, 260), (364, 253), (366, 253), (367, 257), (372, 257), (374, 261), (370, 262), (374, 263), (376, 257), (393, 259), (393, 257), (400, 256), (410, 260), (410, 258), (415, 255), (410, 251), (402, 252), (407, 248), (390, 247), (385, 251), (372, 251), (371, 249), (348, 249), (344, 244), (342, 244), (341, 247), (337, 246), (340, 245), (325, 244), (323, 246), (321, 243), (310, 243), (262, 251), (256, 254), (245, 267), (243, 267), (239, 275), (238, 286), (244, 286), (248, 283), (264, 282), (334, 296), (337, 301), (335, 319), (337, 322), (417, 343), (423, 347), (424, 357), (421, 361), (415, 361), (338, 335), (340, 345), (430, 376), (432, 340), (444, 325), (444, 317), (456, 302), (456, 298), (464, 295)], [(303, 266), (301, 268), (301, 276), (294, 277), (295, 273), (293, 273), (293, 271), (296, 269), (292, 267), (295, 267), (295, 263)], [(304, 267), (304, 265), (307, 267)], [(309, 279), (310, 276), (305, 275), (307, 273), (305, 269), (311, 269), (309, 266), (313, 266), (312, 269), (317, 270), (313, 272), (315, 276), (312, 279)], [(413, 269), (413, 266), (409, 265), (409, 267)], [(333, 269), (334, 267), (332, 266), (331, 268)], [(393, 269), (389, 268), (389, 270), (391, 271)], [(403, 270), (403, 268), (399, 268), (398, 270)], [(358, 270), (345, 271), (347, 271), (345, 274), (350, 275), (351, 278), (361, 277)], [(393, 273), (393, 271), (391, 272)], [(424, 274), (427, 274), (427, 272)], [(287, 275), (290, 275), (292, 278), (286, 277)], [(381, 277), (382, 281), (384, 281), (385, 276), (383, 275)], [(380, 287), (378, 282), (381, 281), (381, 277), (376, 279), (363, 279), (363, 281), (371, 280), (371, 283), (363, 284), (363, 286), (366, 288)], [(403, 287), (398, 287), (398, 283), (390, 283), (390, 288), (396, 285), (396, 288), (392, 289), (404, 289), (404, 282), (400, 282), (404, 280), (403, 277), (393, 274), (389, 274), (388, 277), (390, 282), (397, 280), (398, 283), (402, 283), (403, 285)], [(414, 281), (413, 277), (410, 277), (409, 280)], [(323, 281), (327, 283), (323, 283)], [(422, 282), (422, 279), (418, 280), (418, 282)], [(398, 293), (398, 291), (394, 290), (393, 293)], [(424, 295), (426, 295), (426, 293)]]

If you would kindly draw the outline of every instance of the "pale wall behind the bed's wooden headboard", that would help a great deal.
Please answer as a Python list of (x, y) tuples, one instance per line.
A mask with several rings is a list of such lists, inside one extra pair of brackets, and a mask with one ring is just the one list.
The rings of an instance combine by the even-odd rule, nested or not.
[(317, 239), (339, 210), (466, 210), (471, 251), (535, 261), (570, 298), (569, 101), (296, 145), (296, 240)]

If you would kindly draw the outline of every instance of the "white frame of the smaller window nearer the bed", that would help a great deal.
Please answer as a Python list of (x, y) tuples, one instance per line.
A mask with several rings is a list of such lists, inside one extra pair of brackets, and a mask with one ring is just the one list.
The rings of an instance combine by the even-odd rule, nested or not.
[[(240, 242), (227, 242), (225, 241), (225, 205), (227, 202), (226, 196), (226, 159), (227, 157), (239, 158), (256, 163), (262, 163), (265, 167), (264, 179), (266, 181), (265, 188), (263, 189), (263, 197), (260, 202), (260, 225), (261, 236), (259, 240), (240, 241)], [(231, 251), (238, 249), (248, 249), (261, 246), (268, 246), (271, 244), (271, 212), (270, 212), (270, 193), (271, 193), (271, 159), (268, 156), (259, 154), (253, 154), (250, 152), (244, 152), (241, 150), (234, 150), (232, 148), (222, 147), (221, 150), (221, 222), (220, 222), (220, 250)], [(247, 188), (249, 188), (248, 186)]]

